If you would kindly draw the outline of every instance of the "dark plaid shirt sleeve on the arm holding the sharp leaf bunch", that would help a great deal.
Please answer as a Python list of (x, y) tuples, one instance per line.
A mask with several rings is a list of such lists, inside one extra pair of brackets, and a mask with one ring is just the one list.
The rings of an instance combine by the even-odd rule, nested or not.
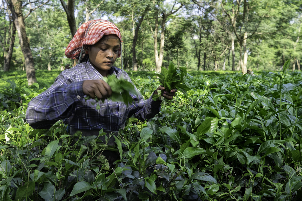
[[(127, 74), (125, 77), (129, 82), (131, 82), (131, 79)], [(157, 115), (160, 111), (162, 101), (154, 101), (152, 99), (154, 92), (149, 97), (149, 99), (145, 100), (140, 94), (140, 92), (137, 90), (135, 85), (134, 87), (137, 91), (138, 96), (132, 96), (134, 101), (132, 103), (129, 103), (129, 117), (133, 115), (133, 117), (139, 119), (140, 121), (145, 121), (147, 119), (155, 117), (155, 115)]]

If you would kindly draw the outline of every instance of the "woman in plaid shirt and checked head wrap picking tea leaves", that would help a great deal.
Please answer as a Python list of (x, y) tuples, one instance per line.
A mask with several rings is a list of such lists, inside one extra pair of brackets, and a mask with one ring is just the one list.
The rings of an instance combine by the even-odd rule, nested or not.
[[(132, 115), (144, 121), (159, 113), (161, 101), (152, 100), (152, 96), (144, 100), (141, 95), (131, 94), (134, 101), (129, 105), (107, 99), (111, 96), (111, 88), (102, 80), (103, 77), (114, 74), (131, 82), (125, 71), (113, 66), (122, 53), (120, 30), (114, 24), (107, 20), (91, 20), (82, 24), (65, 55), (72, 59), (82, 58), (83, 50), (88, 55), (86, 61), (63, 71), (49, 89), (28, 103), (26, 120), (33, 128), (48, 129), (63, 119), (65, 124), (69, 124), (70, 134), (79, 130), (82, 136), (98, 136), (101, 129), (106, 133), (116, 133)], [(162, 96), (167, 99), (172, 99), (177, 92), (174, 89), (167, 93), (163, 86), (157, 90), (162, 90)], [(153, 94), (157, 94), (157, 90)], [(86, 96), (92, 99), (85, 100)], [(99, 101), (99, 110), (96, 109), (95, 97), (104, 100), (104, 103)], [(113, 138), (108, 145), (114, 145)], [(113, 154), (109, 152), (107, 158), (110, 155)]]

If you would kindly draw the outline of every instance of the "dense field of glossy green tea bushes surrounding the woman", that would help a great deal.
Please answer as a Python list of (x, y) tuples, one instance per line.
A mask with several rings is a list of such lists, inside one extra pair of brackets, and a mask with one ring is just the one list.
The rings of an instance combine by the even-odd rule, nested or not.
[[(129, 118), (117, 147), (98, 143), (102, 131), (70, 136), (62, 121), (32, 129), (27, 103), (46, 88), (10, 82), (0, 90), (0, 199), (301, 200), (302, 74), (192, 74), (193, 89), (155, 118)], [(132, 81), (145, 98), (159, 85), (143, 73)], [(114, 168), (105, 149), (120, 154)]]

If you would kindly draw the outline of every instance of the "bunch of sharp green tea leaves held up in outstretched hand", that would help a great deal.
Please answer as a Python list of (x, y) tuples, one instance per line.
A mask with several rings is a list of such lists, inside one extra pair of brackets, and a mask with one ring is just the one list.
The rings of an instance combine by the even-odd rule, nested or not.
[[(159, 77), (159, 82), (162, 86), (165, 87), (165, 90), (170, 93), (172, 89), (177, 89), (184, 94), (187, 94), (187, 91), (191, 89), (191, 85), (186, 82), (186, 76), (188, 75), (186, 68), (177, 68), (171, 62), (169, 68), (160, 67), (162, 71), (157, 72)], [(153, 99), (156, 100), (161, 96), (161, 91), (157, 92), (158, 95), (153, 95)]]

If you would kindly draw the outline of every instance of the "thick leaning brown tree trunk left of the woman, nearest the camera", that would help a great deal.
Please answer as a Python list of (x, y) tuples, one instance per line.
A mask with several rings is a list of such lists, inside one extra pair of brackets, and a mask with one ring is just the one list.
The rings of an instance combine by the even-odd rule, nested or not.
[(31, 54), (31, 48), (29, 46), (28, 38), (26, 36), (24, 17), (22, 13), (22, 2), (19, 0), (12, 0), (8, 2), (8, 5), (11, 10), (12, 18), (16, 26), (20, 47), (25, 60), (25, 69), (28, 85), (31, 85), (36, 80), (36, 71), (34, 68), (34, 59)]

